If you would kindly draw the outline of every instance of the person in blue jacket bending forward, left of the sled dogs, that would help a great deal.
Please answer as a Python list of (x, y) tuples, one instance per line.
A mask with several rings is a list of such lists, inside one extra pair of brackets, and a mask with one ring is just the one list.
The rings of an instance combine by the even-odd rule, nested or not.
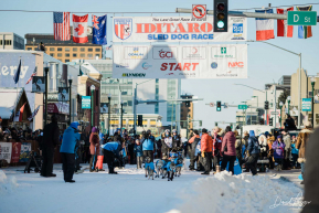
[(114, 159), (115, 157), (119, 159), (119, 152), (124, 148), (124, 145), (121, 145), (121, 142), (118, 141), (119, 139), (120, 138), (118, 136), (115, 136), (114, 137), (115, 141), (107, 142), (100, 146), (100, 148), (105, 149), (105, 159), (109, 174), (117, 174), (117, 172), (114, 171)]

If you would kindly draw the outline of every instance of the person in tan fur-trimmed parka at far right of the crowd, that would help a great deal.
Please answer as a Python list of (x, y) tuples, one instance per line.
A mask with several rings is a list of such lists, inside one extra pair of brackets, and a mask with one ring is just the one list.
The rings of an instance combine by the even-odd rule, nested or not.
[[(298, 162), (301, 166), (301, 174), (304, 180), (305, 180), (305, 164), (306, 164), (306, 147), (312, 130), (311, 124), (309, 121), (305, 126), (306, 128), (298, 134), (296, 143), (296, 148), (299, 149)], [(304, 184), (304, 181), (301, 181), (300, 184)]]

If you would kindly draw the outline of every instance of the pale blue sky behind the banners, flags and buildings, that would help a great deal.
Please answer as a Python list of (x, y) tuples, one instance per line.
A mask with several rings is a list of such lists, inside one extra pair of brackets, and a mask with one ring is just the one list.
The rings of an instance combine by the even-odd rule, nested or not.
[[(267, 7), (268, 3), (277, 6), (291, 6), (305, 3), (304, 0), (230, 0), (230, 9), (251, 9)], [(315, 2), (315, 1), (313, 1)], [(174, 12), (176, 8), (191, 8), (193, 3), (206, 4), (213, 9), (213, 0), (2, 0), (1, 10), (49, 10), (70, 12)], [(319, 6), (313, 6), (317, 11)], [(295, 8), (296, 10), (296, 8)], [(248, 10), (253, 12), (253, 10)], [(84, 13), (77, 13), (83, 15)], [(98, 14), (100, 15), (100, 14)], [(111, 18), (108, 13), (108, 41), (111, 41)], [(141, 14), (116, 14), (116, 15), (141, 15)], [(142, 14), (150, 15), (150, 14)], [(152, 14), (179, 15), (179, 14)], [(182, 15), (182, 14), (181, 14)], [(184, 14), (189, 15), (189, 14)], [(52, 13), (29, 12), (0, 12), (2, 32), (14, 32), (21, 36), (25, 33), (53, 33)], [(89, 15), (91, 23), (91, 15)], [(283, 46), (296, 53), (302, 53), (302, 67), (308, 74), (315, 75), (319, 67), (318, 47), (319, 30), (312, 26), (313, 36), (307, 40), (298, 39), (298, 28), (294, 29), (294, 38), (277, 38), (277, 23), (275, 21), (275, 38), (273, 44)], [(248, 39), (256, 39), (255, 19), (248, 19)], [(109, 42), (110, 43), (110, 42)], [(222, 100), (223, 103), (240, 104), (252, 98), (252, 89), (235, 86), (234, 84), (246, 84), (259, 89), (266, 83), (277, 82), (283, 75), (290, 75), (299, 66), (298, 56), (263, 43), (248, 43), (248, 78), (246, 79), (183, 79), (182, 92), (204, 98), (194, 105), (195, 119), (202, 119), (203, 126), (212, 128), (215, 121), (235, 121), (236, 108), (222, 109), (216, 113), (205, 104)], [(297, 86), (297, 85), (296, 85)]]

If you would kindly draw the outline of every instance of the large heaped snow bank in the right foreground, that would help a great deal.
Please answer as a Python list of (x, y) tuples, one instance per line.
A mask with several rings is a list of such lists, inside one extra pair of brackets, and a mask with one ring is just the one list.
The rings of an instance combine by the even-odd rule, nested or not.
[(289, 201), (299, 192), (293, 184), (276, 182), (267, 175), (231, 175), (224, 171), (194, 181), (191, 190), (180, 193), (183, 204), (169, 213), (283, 212), (283, 207), (284, 212), (291, 212), (288, 206), (278, 206), (276, 210), (269, 206), (277, 196), (281, 201)]

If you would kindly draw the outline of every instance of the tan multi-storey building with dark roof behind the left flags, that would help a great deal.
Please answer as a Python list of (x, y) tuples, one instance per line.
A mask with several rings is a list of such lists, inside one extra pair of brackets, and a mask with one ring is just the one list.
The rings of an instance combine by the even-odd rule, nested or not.
[[(72, 31), (71, 31), (72, 32)], [(93, 60), (102, 58), (103, 46), (92, 43), (92, 34), (88, 34), (88, 43), (74, 43), (71, 35), (70, 41), (56, 41), (53, 34), (25, 34), (25, 50), (38, 50), (40, 42), (45, 45), (45, 53), (61, 62), (71, 62), (73, 60)]]

